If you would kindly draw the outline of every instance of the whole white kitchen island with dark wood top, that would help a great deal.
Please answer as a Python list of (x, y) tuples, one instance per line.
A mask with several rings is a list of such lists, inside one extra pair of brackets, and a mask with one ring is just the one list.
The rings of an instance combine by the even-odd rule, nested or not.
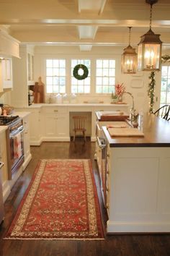
[(107, 233), (170, 232), (170, 122), (146, 114), (140, 129), (144, 137), (111, 137), (102, 127)]

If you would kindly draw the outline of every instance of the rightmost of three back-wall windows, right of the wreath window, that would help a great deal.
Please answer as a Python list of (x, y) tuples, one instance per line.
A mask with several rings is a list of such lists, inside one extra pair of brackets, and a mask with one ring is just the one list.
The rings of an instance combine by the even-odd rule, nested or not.
[(115, 90), (115, 60), (97, 59), (96, 93), (112, 93)]

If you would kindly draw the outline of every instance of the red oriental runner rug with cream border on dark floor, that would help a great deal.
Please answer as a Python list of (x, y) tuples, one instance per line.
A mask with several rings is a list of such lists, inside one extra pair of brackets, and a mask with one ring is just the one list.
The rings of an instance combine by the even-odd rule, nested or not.
[(5, 239), (104, 239), (91, 161), (41, 160)]

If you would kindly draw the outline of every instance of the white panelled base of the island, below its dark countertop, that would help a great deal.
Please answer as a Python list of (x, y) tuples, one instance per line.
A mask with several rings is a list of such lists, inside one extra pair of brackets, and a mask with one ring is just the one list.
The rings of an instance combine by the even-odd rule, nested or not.
[(170, 231), (170, 149), (110, 148), (107, 233)]

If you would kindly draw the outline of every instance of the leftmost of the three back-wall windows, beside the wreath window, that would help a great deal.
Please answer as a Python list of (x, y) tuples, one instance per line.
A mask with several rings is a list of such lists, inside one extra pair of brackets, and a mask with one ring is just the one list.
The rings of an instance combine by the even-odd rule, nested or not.
[(66, 93), (65, 59), (46, 59), (46, 92)]

